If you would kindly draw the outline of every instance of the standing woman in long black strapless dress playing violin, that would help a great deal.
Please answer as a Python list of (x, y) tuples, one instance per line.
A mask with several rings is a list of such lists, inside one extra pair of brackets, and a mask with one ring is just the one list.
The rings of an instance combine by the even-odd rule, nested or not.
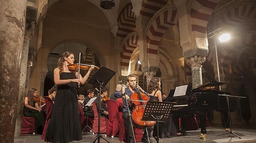
[(48, 124), (46, 141), (67, 143), (82, 139), (77, 84), (84, 84), (94, 66), (91, 65), (84, 77), (78, 79), (77, 70), (70, 70), (68, 65), (74, 64), (74, 54), (64, 52), (58, 59), (58, 67), (54, 69), (54, 83), (57, 85), (56, 98), (52, 115)]

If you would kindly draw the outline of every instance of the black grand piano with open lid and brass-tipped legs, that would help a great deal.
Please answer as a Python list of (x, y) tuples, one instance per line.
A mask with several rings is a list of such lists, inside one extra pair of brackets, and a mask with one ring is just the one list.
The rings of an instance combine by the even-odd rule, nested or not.
[[(223, 84), (225, 83), (209, 81), (194, 88), (188, 87), (184, 96), (173, 97), (175, 90), (171, 90), (169, 96), (163, 101), (175, 103), (172, 115), (198, 114), (201, 127), (200, 138), (206, 139), (206, 113), (212, 110), (224, 113), (228, 111), (227, 99), (223, 95), (232, 95), (232, 93), (215, 90), (215, 87)], [(237, 109), (235, 98), (229, 99), (229, 108), (231, 111)]]

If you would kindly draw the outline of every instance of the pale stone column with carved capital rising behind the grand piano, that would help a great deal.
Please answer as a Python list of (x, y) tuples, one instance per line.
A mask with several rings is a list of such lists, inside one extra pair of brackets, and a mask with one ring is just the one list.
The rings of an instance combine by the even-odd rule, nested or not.
[(194, 56), (186, 59), (191, 64), (192, 71), (192, 87), (202, 85), (202, 62), (205, 62), (206, 58), (202, 56)]

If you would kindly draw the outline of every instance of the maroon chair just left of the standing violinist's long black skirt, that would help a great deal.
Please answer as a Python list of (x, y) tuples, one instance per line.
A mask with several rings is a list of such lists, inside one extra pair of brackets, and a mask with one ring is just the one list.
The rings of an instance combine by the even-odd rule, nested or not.
[(50, 122), (50, 116), (52, 115), (52, 108), (53, 108), (52, 100), (47, 96), (45, 96), (44, 99), (45, 99), (45, 104), (46, 104), (46, 120), (45, 120), (45, 127), (43, 130), (43, 134), (41, 136), (41, 139), (43, 139), (43, 140), (45, 140), (45, 135), (47, 132), (48, 124)]

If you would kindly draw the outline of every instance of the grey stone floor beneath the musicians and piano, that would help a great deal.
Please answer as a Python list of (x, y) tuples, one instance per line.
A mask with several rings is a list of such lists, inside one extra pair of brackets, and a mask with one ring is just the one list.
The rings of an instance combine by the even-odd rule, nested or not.
[[(200, 131), (188, 131), (186, 136), (164, 138), (160, 139), (159, 143), (256, 143), (256, 130), (239, 129), (234, 128), (233, 132), (238, 134), (242, 139), (239, 139), (233, 134), (221, 135), (225, 133), (223, 128), (219, 127), (209, 127), (207, 128), (206, 139), (199, 139)], [(103, 134), (105, 136), (105, 134)], [(74, 141), (74, 143), (91, 143), (91, 141), (96, 137), (96, 135), (83, 135), (83, 140)], [(120, 143), (118, 137), (106, 137), (111, 143)], [(106, 143), (103, 139), (100, 139), (102, 143)], [(151, 142), (156, 143), (155, 139), (151, 137)], [(14, 138), (14, 143), (43, 143), (41, 140), (41, 135), (21, 135)]]

